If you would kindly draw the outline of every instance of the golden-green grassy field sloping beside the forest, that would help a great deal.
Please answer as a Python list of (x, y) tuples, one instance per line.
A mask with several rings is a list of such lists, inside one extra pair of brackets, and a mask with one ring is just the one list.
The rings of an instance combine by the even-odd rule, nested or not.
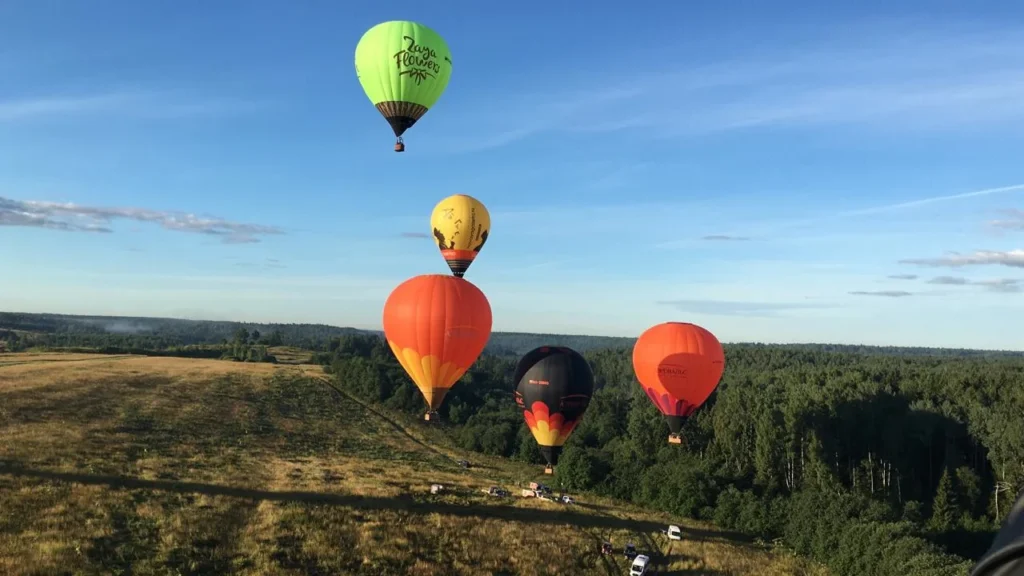
[[(455, 450), (318, 367), (0, 356), (0, 574), (626, 574), (605, 539), (659, 574), (823, 574), (613, 501), (480, 492), (538, 472)], [(670, 520), (683, 541), (658, 532)]]

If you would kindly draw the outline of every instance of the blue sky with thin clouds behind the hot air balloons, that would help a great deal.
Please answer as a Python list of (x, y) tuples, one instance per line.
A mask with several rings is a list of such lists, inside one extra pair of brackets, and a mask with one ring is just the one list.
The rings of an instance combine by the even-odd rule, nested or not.
[(7, 0), (0, 308), (377, 328), (465, 193), (496, 330), (1024, 349), (1024, 6), (693, 4)]

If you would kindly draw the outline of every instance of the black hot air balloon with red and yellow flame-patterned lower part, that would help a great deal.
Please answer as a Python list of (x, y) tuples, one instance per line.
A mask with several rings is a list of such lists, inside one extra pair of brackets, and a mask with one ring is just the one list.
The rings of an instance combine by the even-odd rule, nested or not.
[(515, 402), (548, 461), (544, 471), (552, 474), (562, 445), (590, 405), (594, 373), (574, 349), (541, 346), (519, 360), (513, 381)]

